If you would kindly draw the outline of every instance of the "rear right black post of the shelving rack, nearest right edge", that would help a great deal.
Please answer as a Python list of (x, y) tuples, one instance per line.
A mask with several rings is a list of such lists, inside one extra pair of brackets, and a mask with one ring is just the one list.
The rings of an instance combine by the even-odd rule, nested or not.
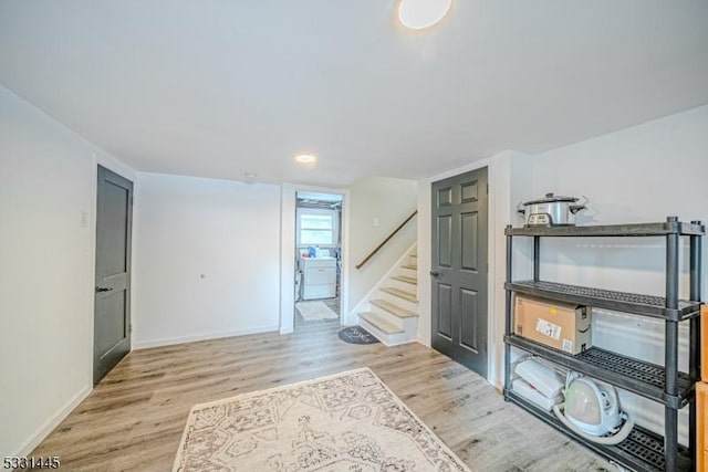
[[(691, 221), (691, 224), (700, 225), (700, 221)], [(700, 302), (700, 259), (701, 259), (701, 237), (693, 234), (689, 239), (689, 298)], [(700, 380), (700, 316), (690, 318), (689, 322), (689, 350), (688, 350), (688, 375), (693, 381)], [(688, 406), (688, 450), (690, 454), (696, 453), (696, 399)]]

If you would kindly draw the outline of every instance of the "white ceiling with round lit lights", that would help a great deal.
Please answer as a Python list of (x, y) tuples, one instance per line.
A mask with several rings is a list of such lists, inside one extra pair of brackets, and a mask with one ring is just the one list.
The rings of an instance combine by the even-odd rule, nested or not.
[[(0, 0), (0, 84), (138, 170), (341, 187), (708, 103), (706, 0)], [(298, 151), (319, 156), (314, 169)]]

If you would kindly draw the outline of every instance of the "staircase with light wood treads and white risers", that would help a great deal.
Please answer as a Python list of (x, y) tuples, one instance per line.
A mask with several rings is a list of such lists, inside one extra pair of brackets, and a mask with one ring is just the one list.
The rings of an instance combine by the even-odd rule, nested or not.
[(358, 324), (386, 346), (410, 343), (418, 328), (418, 256), (416, 247), (378, 284)]

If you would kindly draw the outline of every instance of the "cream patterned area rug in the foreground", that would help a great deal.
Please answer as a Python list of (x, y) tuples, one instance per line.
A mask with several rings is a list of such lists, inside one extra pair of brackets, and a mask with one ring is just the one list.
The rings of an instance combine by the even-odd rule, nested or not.
[(469, 469), (367, 368), (189, 412), (173, 472)]

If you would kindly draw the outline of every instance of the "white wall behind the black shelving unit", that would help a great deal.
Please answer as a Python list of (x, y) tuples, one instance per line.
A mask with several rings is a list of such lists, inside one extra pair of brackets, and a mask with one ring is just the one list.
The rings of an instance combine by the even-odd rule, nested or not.
[[(533, 191), (529, 197), (555, 191), (591, 199), (590, 209), (579, 213), (583, 224), (665, 221), (668, 216), (706, 223), (708, 106), (534, 156), (532, 170)], [(664, 241), (662, 238), (543, 241), (541, 276), (663, 295)], [(683, 250), (687, 270), (688, 251), (685, 245)], [(704, 274), (706, 252), (704, 242)], [(684, 297), (688, 297), (686, 275), (685, 271), (680, 291)], [(707, 286), (704, 276), (704, 298), (708, 295)], [(598, 310), (593, 316), (594, 345), (664, 363), (664, 323)], [(684, 371), (687, 333), (684, 323), (680, 331)], [(656, 403), (626, 396), (623, 405), (639, 417), (639, 422), (655, 428), (663, 423), (663, 409)]]

